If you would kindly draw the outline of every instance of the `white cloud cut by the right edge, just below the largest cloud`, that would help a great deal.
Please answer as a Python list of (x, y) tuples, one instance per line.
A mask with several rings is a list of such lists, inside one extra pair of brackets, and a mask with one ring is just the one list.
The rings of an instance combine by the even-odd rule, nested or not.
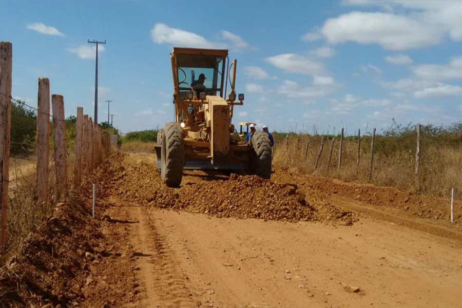
[(454, 57), (448, 64), (421, 64), (413, 68), (417, 78), (445, 81), (462, 78), (462, 56)]

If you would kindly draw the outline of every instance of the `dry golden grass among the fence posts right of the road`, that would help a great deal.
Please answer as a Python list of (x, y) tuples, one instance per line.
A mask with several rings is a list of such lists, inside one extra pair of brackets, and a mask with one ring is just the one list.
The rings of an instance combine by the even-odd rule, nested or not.
[[(310, 141), (306, 159), (306, 142)], [(347, 182), (373, 183), (379, 186), (393, 186), (405, 191), (417, 191), (438, 197), (451, 195), (451, 188), (462, 191), (462, 143), (422, 140), (419, 189), (415, 181), (415, 139), (400, 141), (389, 137), (376, 136), (374, 143), (374, 161), (372, 179), (369, 179), (371, 159), (371, 136), (361, 137), (360, 162), (357, 164), (358, 138), (343, 139), (342, 160), (337, 168), (339, 156), (339, 138), (335, 139), (331, 164), (328, 168), (328, 156), (332, 137), (324, 142), (319, 166), (315, 170), (316, 157), (321, 136), (307, 134), (289, 135), (279, 138), (275, 144), (273, 163), (288, 167), (303, 174), (312, 174), (326, 178), (335, 178)], [(404, 142), (409, 144), (404, 144)], [(462, 194), (456, 194), (462, 199)]]

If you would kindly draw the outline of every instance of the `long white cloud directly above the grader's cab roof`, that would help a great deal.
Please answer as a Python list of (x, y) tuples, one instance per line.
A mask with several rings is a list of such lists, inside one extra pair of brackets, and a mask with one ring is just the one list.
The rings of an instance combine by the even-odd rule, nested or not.
[(249, 48), (248, 43), (245, 42), (242, 37), (226, 30), (222, 30), (220, 33), (221, 41), (213, 42), (207, 40), (202, 35), (157, 23), (151, 29), (151, 37), (154, 43), (170, 44), (180, 47), (222, 48), (236, 52)]

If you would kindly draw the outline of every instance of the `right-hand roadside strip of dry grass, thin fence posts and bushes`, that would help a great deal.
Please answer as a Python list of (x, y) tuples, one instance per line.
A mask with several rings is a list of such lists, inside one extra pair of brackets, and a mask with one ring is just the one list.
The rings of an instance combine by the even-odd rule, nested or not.
[[(275, 165), (305, 174), (348, 182), (393, 186), (405, 191), (460, 199), (462, 190), (462, 124), (393, 124), (349, 135), (273, 133)], [(301, 146), (303, 145), (303, 146)], [(449, 206), (449, 205), (448, 205)]]

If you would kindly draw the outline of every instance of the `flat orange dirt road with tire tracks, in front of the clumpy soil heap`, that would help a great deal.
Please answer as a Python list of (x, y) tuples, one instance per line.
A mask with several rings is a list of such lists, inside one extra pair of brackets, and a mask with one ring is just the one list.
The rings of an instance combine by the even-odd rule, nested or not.
[[(153, 159), (127, 161), (133, 166)], [(183, 179), (196, 185), (207, 181), (207, 175), (196, 173)], [(185, 189), (173, 190), (178, 200)], [(95, 288), (84, 305), (448, 307), (462, 302), (458, 225), (330, 193), (329, 206), (353, 211), (359, 219), (345, 226), (336, 216), (328, 222), (217, 218), (127, 201), (132, 199), (127, 194), (114, 189), (104, 213), (106, 245), (118, 257), (103, 258), (95, 269)], [(313, 210), (318, 214), (312, 217), (319, 217)], [(112, 301), (114, 295), (103, 292), (119, 289)]]

